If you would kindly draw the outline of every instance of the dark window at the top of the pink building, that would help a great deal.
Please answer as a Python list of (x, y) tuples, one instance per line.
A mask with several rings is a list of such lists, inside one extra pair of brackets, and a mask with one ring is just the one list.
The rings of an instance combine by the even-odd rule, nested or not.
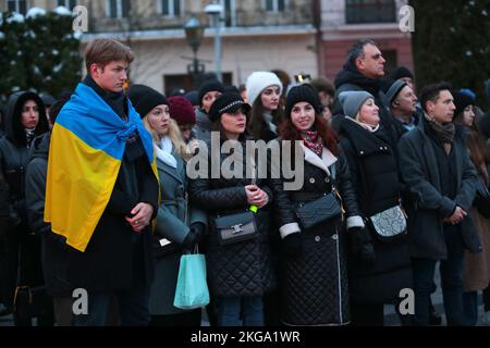
[(345, 22), (393, 23), (396, 22), (394, 0), (345, 0)]

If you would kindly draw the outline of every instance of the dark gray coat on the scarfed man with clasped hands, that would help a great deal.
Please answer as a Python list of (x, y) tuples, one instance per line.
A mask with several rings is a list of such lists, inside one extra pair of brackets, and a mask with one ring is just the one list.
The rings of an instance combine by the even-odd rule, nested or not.
[[(409, 252), (414, 258), (445, 260), (448, 249), (442, 220), (450, 216), (456, 206), (469, 212), (478, 177), (462, 132), (456, 128), (452, 151), (456, 158), (457, 194), (454, 200), (441, 195), (439, 166), (428, 126), (427, 121), (420, 120), (417, 128), (406, 133), (399, 144), (400, 170), (413, 197), (408, 209)], [(478, 252), (481, 245), (470, 215), (463, 220), (460, 228), (466, 248)]]

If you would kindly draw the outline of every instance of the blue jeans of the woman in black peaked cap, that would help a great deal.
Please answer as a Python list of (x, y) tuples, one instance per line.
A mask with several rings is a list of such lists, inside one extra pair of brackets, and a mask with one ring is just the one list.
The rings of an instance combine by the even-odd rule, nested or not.
[(260, 296), (220, 297), (216, 299), (219, 326), (264, 326), (264, 303)]

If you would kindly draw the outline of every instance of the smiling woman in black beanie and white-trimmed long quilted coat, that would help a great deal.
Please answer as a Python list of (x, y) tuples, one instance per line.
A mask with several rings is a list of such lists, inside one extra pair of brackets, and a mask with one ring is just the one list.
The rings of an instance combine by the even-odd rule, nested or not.
[[(301, 188), (286, 190), (289, 181), (284, 177), (270, 179), (282, 238), (281, 320), (286, 325), (344, 325), (350, 323), (350, 311), (343, 217), (350, 234), (357, 235), (364, 227), (347, 161), (322, 120), (320, 101), (311, 86), (290, 90), (285, 116), (279, 141), (282, 146), (299, 141), (302, 159), (294, 163), (296, 173), (297, 165), (303, 166), (304, 182)], [(287, 152), (282, 151), (281, 162), (281, 167), (287, 167)], [(330, 204), (321, 203), (328, 198)], [(302, 220), (299, 210), (311, 204)], [(362, 247), (370, 251), (369, 246)]]

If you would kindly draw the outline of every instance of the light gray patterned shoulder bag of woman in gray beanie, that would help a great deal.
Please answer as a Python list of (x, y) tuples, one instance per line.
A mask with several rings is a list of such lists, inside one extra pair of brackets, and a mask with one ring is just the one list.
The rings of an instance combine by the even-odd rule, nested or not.
[(391, 239), (406, 234), (406, 216), (400, 206), (383, 210), (369, 217), (369, 220), (381, 239)]

